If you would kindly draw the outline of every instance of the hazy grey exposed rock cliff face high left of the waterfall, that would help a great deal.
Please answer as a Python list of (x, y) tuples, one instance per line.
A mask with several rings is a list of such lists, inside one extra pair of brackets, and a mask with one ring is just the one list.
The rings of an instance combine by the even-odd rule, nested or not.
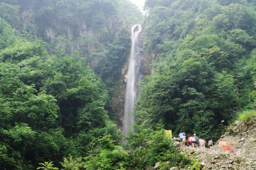
[[(119, 30), (126, 26), (126, 22), (115, 12), (110, 15), (103, 14), (104, 23), (98, 23), (98, 25), (97, 22), (88, 22), (88, 18), (79, 15), (74, 15), (72, 18), (74, 23), (70, 23), (65, 19), (61, 21), (54, 13), (38, 14), (37, 5), (32, 1), (31, 5), (20, 10), (17, 29), (22, 31), (23, 25), (26, 25), (32, 28), (28, 31), (35, 33), (52, 45), (59, 46), (69, 54), (72, 54), (74, 50), (80, 50), (88, 57), (99, 47), (104, 49), (105, 40), (114, 39)], [(102, 32), (101, 27), (104, 28), (105, 33)], [(95, 63), (96, 61), (91, 62)]]

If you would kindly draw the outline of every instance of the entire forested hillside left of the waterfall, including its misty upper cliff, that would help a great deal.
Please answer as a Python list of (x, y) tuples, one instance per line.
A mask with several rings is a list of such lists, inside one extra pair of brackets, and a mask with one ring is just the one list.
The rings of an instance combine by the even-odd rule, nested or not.
[(105, 107), (140, 11), (125, 0), (4, 0), (0, 17), (0, 169), (60, 166), (104, 135), (118, 144)]

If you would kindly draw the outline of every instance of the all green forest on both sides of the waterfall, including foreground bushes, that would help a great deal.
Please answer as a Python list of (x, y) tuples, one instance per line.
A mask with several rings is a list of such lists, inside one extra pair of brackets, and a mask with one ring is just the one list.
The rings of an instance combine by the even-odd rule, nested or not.
[[(219, 139), (238, 115), (255, 115), (253, 0), (146, 0), (144, 9), (0, 0), (0, 169), (200, 169), (165, 129)], [(124, 137), (112, 98), (125, 93), (135, 23), (148, 75)]]

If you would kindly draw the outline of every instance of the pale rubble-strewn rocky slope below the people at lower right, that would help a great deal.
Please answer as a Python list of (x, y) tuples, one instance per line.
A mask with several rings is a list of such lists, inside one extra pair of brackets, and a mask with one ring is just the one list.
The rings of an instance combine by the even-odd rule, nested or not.
[[(256, 170), (256, 118), (253, 117), (247, 122), (237, 121), (228, 129), (212, 152), (209, 148), (192, 148), (175, 143), (181, 152), (198, 161), (202, 170)], [(229, 142), (230, 150), (223, 150), (222, 141)], [(173, 169), (190, 170), (191, 167)]]

